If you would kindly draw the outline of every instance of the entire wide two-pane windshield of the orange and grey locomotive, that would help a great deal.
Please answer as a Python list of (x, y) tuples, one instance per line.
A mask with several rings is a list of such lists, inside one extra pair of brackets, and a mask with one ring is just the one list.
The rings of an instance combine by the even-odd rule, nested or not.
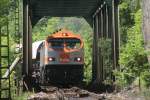
[(64, 48), (67, 49), (78, 49), (80, 48), (81, 41), (80, 39), (76, 38), (55, 38), (55, 39), (49, 39), (48, 40), (50, 44), (50, 48)]

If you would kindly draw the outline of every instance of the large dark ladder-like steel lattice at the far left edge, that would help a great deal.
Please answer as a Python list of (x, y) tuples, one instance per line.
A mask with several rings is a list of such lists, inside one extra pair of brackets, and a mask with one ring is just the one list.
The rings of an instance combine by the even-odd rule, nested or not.
[(10, 75), (3, 77), (9, 70), (9, 29), (8, 18), (6, 25), (0, 27), (0, 100), (11, 100)]

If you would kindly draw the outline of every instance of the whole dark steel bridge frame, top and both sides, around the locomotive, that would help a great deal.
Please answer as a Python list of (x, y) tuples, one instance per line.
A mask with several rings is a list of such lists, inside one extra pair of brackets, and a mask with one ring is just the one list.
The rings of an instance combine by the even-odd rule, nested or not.
[[(107, 78), (106, 58), (99, 40), (110, 39), (111, 70), (119, 67), (119, 0), (23, 0), (23, 75), (31, 75), (32, 27), (44, 16), (84, 17), (93, 28), (92, 81), (103, 83)], [(17, 30), (17, 29), (16, 29)], [(115, 78), (111, 74), (111, 79)], [(2, 90), (1, 90), (2, 91)]]

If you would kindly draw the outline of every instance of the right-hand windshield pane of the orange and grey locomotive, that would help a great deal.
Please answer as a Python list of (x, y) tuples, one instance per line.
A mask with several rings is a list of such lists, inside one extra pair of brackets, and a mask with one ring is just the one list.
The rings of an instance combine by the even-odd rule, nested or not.
[(78, 49), (80, 48), (81, 41), (79, 39), (66, 39), (66, 48), (68, 49)]

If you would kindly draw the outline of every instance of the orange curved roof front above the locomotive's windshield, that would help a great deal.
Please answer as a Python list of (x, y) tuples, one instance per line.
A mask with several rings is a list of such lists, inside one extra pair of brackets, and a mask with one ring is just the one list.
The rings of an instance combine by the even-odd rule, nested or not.
[(68, 31), (66, 29), (62, 29), (59, 31), (54, 32), (53, 34), (49, 35), (48, 38), (78, 38), (81, 39), (81, 36), (79, 34), (74, 34), (71, 31)]

